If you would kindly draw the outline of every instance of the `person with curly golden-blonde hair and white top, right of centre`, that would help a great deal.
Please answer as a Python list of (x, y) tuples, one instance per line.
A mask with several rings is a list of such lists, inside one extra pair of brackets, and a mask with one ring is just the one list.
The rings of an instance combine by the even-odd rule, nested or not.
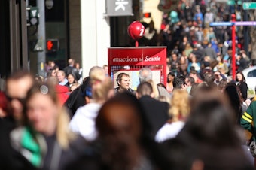
[(170, 102), (169, 117), (171, 119), (157, 132), (155, 141), (163, 142), (175, 138), (184, 126), (190, 112), (190, 102), (186, 90), (174, 90)]

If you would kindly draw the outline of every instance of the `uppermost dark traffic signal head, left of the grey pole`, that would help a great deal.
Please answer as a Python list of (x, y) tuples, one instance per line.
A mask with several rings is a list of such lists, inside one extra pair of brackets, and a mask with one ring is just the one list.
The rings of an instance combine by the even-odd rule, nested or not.
[(29, 6), (27, 10), (27, 25), (28, 26), (37, 26), (39, 24), (39, 10), (38, 7)]

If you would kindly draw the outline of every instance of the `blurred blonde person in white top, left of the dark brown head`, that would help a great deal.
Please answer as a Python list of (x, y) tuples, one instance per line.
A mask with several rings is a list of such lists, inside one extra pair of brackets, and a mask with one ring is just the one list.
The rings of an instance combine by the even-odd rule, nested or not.
[(90, 87), (92, 94), (90, 101), (87, 101), (87, 105), (78, 108), (69, 123), (70, 129), (81, 134), (87, 141), (96, 139), (95, 119), (98, 111), (107, 99), (114, 96), (114, 83), (110, 77), (105, 76), (103, 68), (90, 74)]

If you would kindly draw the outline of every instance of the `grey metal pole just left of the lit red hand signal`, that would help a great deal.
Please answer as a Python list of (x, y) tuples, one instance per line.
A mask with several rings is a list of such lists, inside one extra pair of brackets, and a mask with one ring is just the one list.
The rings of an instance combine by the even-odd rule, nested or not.
[(38, 75), (45, 76), (44, 63), (45, 63), (45, 17), (44, 17), (44, 0), (36, 1), (39, 10), (39, 25), (38, 25), (38, 41), (43, 44), (42, 51), (38, 51)]

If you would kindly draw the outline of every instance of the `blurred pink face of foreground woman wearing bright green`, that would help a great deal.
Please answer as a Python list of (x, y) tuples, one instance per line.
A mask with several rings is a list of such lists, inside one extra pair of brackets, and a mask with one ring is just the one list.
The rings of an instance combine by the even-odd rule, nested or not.
[(50, 96), (35, 93), (26, 103), (26, 107), (26, 114), (32, 127), (37, 132), (52, 135), (56, 128), (58, 107)]

